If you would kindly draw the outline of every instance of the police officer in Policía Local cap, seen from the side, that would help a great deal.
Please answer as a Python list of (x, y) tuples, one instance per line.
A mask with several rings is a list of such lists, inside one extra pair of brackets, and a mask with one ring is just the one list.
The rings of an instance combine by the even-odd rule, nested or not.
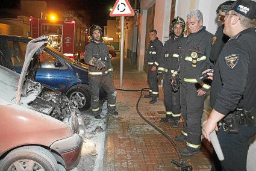
[(256, 2), (224, 5), (223, 33), (231, 37), (214, 66), (211, 111), (202, 134), (209, 135), (220, 120), (223, 170), (246, 170), (248, 142), (256, 134)]

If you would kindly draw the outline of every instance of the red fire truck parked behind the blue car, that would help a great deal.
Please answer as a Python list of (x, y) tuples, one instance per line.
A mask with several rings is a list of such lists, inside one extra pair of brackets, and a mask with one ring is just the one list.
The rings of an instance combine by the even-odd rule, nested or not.
[(88, 42), (86, 25), (70, 17), (63, 20), (30, 18), (30, 33), (34, 39), (47, 35), (48, 45), (70, 58), (78, 51), (83, 52)]

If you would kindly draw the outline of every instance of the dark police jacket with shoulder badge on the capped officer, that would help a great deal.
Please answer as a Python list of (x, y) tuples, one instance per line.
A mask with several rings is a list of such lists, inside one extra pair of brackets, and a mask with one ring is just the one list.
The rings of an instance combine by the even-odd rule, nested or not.
[(221, 114), (236, 108), (256, 113), (255, 28), (231, 37), (214, 66), (211, 107)]

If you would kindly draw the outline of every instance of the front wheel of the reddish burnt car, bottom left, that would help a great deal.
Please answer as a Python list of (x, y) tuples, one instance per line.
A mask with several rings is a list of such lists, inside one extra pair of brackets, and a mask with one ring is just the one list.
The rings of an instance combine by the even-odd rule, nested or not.
[(24, 146), (11, 151), (0, 163), (0, 170), (58, 171), (51, 152), (40, 146)]

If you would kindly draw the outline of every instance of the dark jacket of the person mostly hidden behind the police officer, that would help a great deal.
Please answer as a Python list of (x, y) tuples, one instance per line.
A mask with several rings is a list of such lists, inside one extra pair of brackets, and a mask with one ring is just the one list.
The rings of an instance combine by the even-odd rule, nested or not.
[(210, 53), (210, 61), (215, 64), (217, 62), (217, 58), (225, 45), (228, 42), (229, 37), (223, 34), (224, 25), (220, 25), (217, 28), (216, 33), (214, 34), (212, 45), (211, 46), (211, 53)]

